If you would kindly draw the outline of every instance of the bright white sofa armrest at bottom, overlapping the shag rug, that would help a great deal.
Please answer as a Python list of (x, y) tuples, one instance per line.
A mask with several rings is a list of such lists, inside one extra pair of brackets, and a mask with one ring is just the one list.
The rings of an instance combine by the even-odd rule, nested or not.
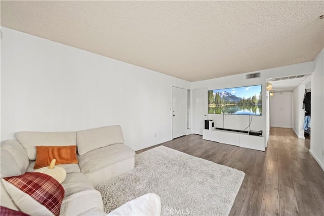
[(144, 194), (116, 208), (107, 215), (161, 215), (161, 200), (154, 193)]

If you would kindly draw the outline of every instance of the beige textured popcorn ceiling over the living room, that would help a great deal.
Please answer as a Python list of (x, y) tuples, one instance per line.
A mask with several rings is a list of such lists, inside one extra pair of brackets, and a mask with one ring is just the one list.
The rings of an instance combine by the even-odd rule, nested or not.
[(1, 1), (1, 25), (188, 81), (312, 61), (323, 1)]

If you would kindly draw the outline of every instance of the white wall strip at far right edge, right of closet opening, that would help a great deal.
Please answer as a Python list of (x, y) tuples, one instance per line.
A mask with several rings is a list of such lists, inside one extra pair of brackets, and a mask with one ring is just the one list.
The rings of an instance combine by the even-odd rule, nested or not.
[(324, 51), (314, 60), (314, 73), (311, 77), (311, 132), (310, 150), (315, 160), (324, 170)]

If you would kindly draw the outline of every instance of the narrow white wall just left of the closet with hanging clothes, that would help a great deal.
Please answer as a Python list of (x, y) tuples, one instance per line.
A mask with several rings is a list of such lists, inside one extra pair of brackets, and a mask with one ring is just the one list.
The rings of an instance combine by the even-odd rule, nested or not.
[(293, 129), (298, 138), (304, 139), (305, 110), (303, 109), (305, 85), (299, 85), (293, 91)]

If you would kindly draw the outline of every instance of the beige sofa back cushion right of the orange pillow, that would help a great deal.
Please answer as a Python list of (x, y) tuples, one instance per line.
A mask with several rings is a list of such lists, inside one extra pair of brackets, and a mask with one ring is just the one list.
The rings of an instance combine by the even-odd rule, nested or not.
[(77, 131), (76, 141), (77, 152), (83, 155), (115, 143), (124, 143), (124, 137), (120, 126), (113, 125)]

